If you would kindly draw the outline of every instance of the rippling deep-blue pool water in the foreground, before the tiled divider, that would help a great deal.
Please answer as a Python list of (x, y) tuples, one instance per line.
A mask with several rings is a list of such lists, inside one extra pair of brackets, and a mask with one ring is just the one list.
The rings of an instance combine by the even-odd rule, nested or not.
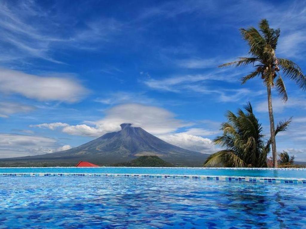
[(124, 176), (0, 176), (0, 196), (0, 228), (306, 226), (304, 185)]

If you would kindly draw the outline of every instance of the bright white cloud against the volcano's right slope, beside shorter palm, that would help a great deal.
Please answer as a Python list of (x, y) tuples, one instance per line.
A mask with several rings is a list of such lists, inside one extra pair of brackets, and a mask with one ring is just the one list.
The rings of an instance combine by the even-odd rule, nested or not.
[(179, 146), (187, 150), (209, 154), (215, 152), (214, 144), (208, 138), (194, 136), (187, 133), (158, 135), (158, 137), (170, 144)]

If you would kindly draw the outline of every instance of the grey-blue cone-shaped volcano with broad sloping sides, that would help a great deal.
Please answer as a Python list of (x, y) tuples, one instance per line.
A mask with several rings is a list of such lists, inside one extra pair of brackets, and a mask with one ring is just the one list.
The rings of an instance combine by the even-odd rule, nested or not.
[(113, 165), (129, 162), (139, 156), (158, 156), (176, 166), (202, 166), (208, 154), (189, 151), (169, 144), (130, 123), (120, 125), (121, 130), (106, 133), (79, 147), (36, 156), (4, 158), (2, 163), (26, 163), (45, 165), (75, 165), (79, 161), (90, 161), (98, 165)]

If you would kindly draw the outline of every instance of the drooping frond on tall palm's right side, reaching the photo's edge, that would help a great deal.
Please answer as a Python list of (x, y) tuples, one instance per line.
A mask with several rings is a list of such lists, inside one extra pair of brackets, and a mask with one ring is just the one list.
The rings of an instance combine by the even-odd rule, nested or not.
[(281, 66), (281, 70), (284, 72), (285, 76), (294, 80), (302, 90), (306, 90), (306, 77), (297, 64), (283, 58), (278, 58), (278, 64)]

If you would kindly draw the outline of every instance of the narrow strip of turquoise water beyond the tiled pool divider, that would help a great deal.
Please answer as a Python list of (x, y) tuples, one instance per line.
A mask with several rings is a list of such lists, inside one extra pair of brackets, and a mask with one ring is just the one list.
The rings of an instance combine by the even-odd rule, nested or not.
[(203, 168), (0, 168), (1, 173), (102, 173), (102, 174), (167, 174), (211, 176), (255, 176), (306, 178), (306, 169), (203, 169)]

